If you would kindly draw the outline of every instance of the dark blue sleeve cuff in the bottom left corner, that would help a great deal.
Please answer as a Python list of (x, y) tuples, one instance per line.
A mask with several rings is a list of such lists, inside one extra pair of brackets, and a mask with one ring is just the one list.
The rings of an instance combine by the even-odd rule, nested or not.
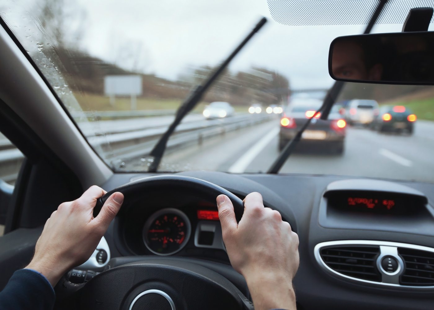
[(39, 272), (16, 270), (0, 292), (1, 310), (50, 310), (56, 295), (53, 287)]

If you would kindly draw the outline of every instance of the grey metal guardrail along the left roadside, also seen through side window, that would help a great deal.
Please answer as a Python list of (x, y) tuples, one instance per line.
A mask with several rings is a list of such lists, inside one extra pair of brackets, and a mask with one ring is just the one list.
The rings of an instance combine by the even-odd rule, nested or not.
[[(273, 115), (239, 114), (227, 119), (203, 119), (181, 123), (169, 139), (167, 151), (171, 152), (174, 149), (187, 147), (194, 143), (201, 144), (213, 136), (266, 122), (270, 119), (273, 119)], [(110, 135), (88, 136), (87, 139), (97, 152), (104, 153), (105, 158), (112, 160), (114, 167), (122, 167), (125, 162), (147, 155), (166, 127), (159, 126)], [(18, 175), (23, 154), (10, 142), (7, 143), (7, 140), (0, 142), (4, 142), (3, 144), (0, 143), (0, 179), (13, 183)]]

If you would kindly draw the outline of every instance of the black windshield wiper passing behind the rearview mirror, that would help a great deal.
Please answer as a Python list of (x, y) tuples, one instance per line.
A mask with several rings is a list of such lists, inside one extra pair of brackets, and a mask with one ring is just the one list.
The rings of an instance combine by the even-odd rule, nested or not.
[[(378, 3), (377, 8), (375, 9), (374, 14), (371, 16), (371, 20), (369, 20), (368, 26), (366, 26), (365, 31), (363, 34), (368, 34), (371, 32), (372, 27), (374, 26), (375, 21), (377, 20), (378, 16), (381, 13), (381, 10), (385, 6), (388, 0), (381, 0), (380, 3)], [(276, 158), (276, 160), (273, 162), (273, 164), (268, 169), (267, 173), (278, 173), (280, 168), (282, 168), (283, 164), (286, 162), (286, 160), (289, 158), (289, 155), (293, 152), (294, 148), (296, 147), (297, 143), (300, 141), (301, 136), (305, 129), (309, 126), (310, 122), (313, 118), (318, 115), (318, 113), (321, 113), (320, 119), (327, 119), (330, 114), (330, 110), (332, 109), (333, 104), (336, 102), (336, 99), (338, 98), (339, 94), (341, 93), (341, 90), (344, 86), (345, 82), (342, 81), (336, 81), (333, 86), (329, 89), (327, 92), (327, 95), (324, 98), (324, 101), (322, 102), (322, 106), (316, 111), (312, 117), (306, 120), (306, 123), (300, 128), (300, 130), (297, 132), (297, 134), (294, 136), (293, 139), (291, 139), (288, 143), (286, 143), (285, 147), (283, 148), (282, 152), (279, 154), (279, 156)]]

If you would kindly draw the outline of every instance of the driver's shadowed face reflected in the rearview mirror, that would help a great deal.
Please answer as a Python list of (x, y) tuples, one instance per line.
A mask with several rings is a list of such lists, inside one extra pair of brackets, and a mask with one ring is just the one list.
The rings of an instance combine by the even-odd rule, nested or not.
[(333, 46), (332, 72), (337, 78), (380, 80), (382, 66), (368, 61), (368, 51), (354, 41), (336, 42)]

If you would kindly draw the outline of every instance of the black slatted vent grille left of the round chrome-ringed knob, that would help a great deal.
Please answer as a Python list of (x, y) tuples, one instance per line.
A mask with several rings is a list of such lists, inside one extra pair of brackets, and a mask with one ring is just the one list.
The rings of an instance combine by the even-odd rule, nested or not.
[[(320, 255), (331, 269), (362, 280), (381, 281), (381, 274), (376, 266), (380, 254), (378, 246), (336, 246), (323, 247)], [(433, 265), (434, 266), (434, 265)]]

